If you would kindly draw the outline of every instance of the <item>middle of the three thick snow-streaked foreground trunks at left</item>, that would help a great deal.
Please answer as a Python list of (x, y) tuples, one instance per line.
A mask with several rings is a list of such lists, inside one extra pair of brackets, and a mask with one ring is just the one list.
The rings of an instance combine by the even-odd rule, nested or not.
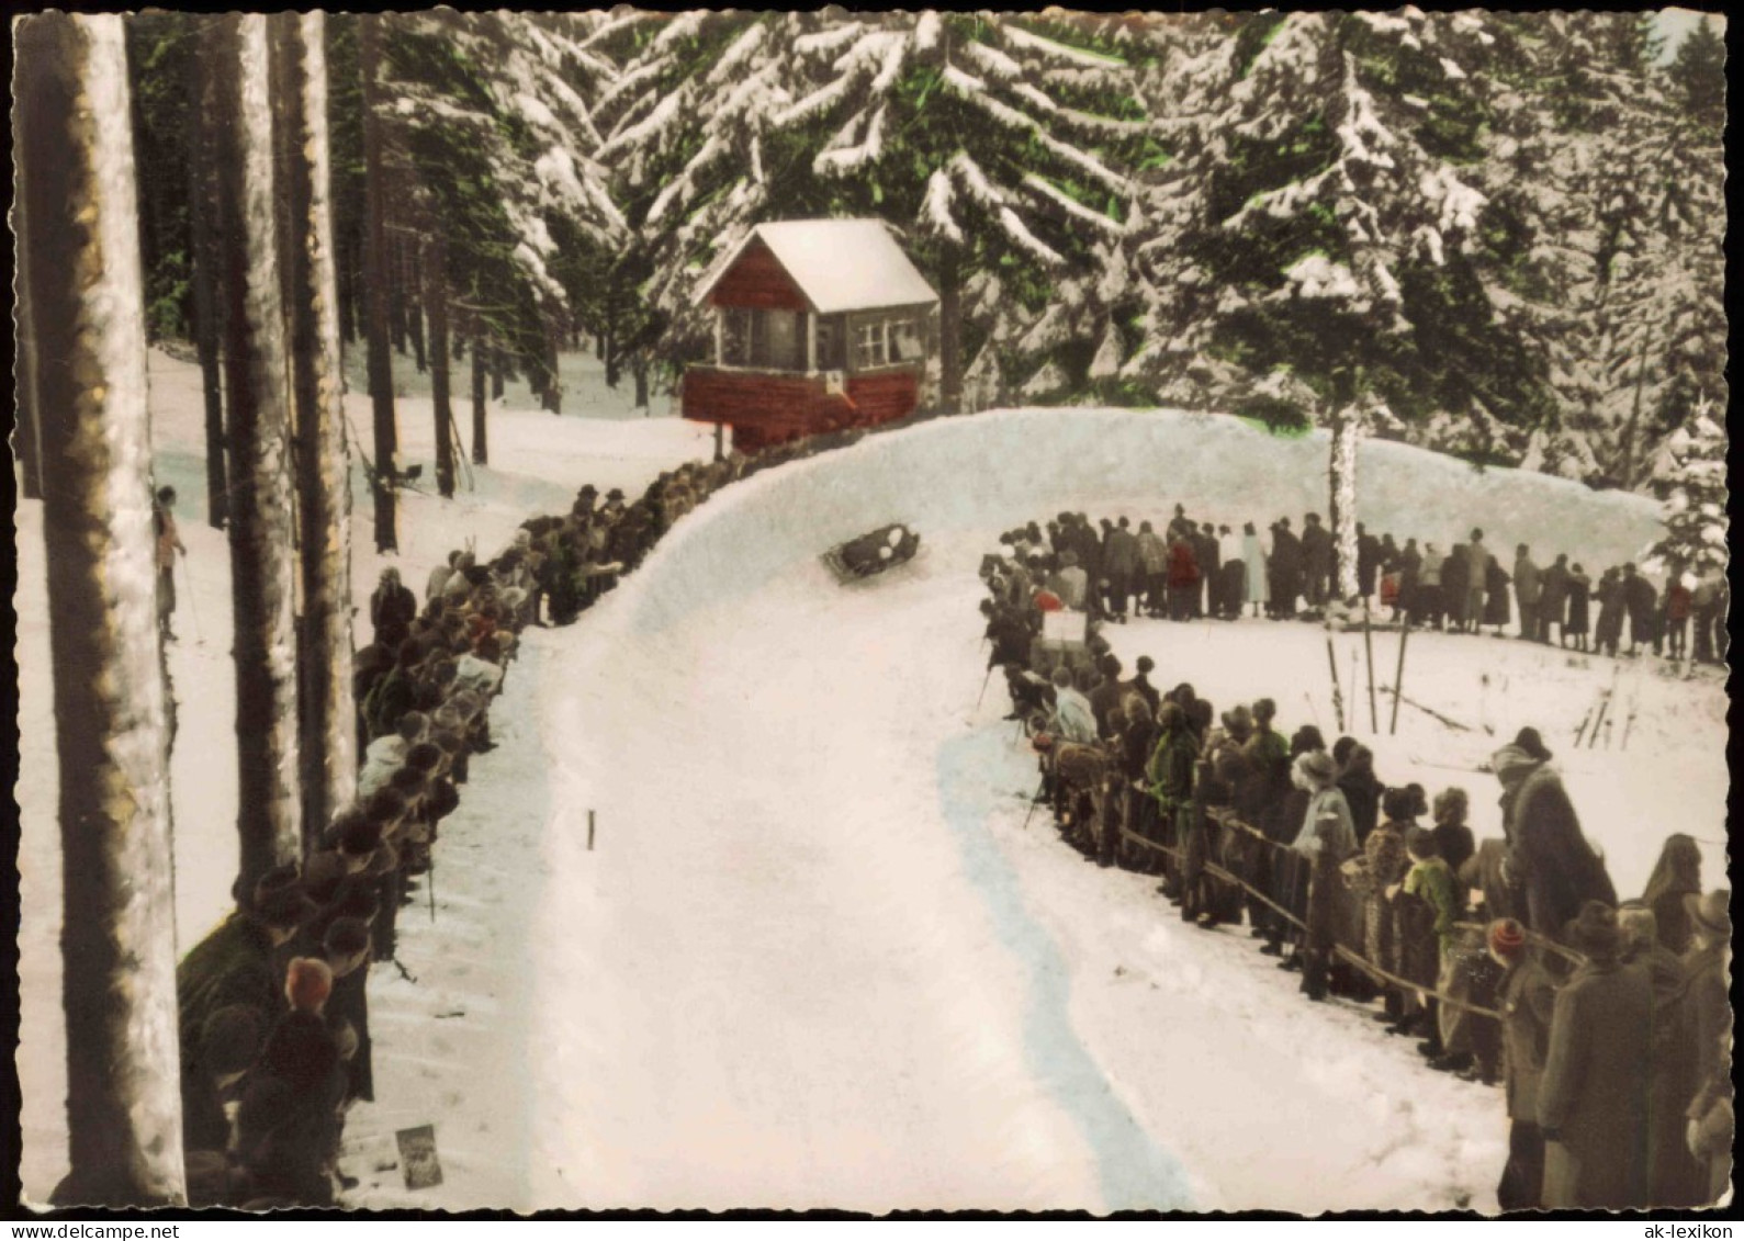
[(230, 411), (230, 587), (235, 615), (241, 891), (302, 854), (291, 443), (267, 19), (225, 17), (216, 77), (218, 204)]

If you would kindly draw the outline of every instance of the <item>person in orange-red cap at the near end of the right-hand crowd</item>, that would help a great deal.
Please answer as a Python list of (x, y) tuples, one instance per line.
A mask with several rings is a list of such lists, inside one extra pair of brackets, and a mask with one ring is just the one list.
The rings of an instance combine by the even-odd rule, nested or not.
[(1496, 992), (1502, 1013), (1503, 1091), (1509, 1105), (1509, 1163), (1496, 1187), (1503, 1211), (1543, 1206), (1543, 1129), (1538, 1084), (1550, 1055), (1556, 990), (1550, 974), (1526, 952), (1526, 927), (1514, 919), (1489, 924), (1489, 955), (1505, 971)]

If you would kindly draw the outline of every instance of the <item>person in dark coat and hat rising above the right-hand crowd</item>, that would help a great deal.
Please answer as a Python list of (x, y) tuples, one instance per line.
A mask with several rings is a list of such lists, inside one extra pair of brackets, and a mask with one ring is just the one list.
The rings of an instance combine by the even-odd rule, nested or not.
[(1604, 859), (1582, 835), (1556, 770), (1519, 744), (1498, 749), (1491, 767), (1503, 790), (1509, 868), (1526, 889), (1526, 926), (1556, 938), (1589, 901), (1615, 908)]

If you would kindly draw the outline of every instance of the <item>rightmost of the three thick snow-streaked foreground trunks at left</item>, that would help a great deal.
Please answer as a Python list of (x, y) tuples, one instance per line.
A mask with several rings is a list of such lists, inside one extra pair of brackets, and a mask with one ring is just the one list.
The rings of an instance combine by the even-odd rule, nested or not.
[(302, 828), (307, 851), (358, 793), (352, 701), (351, 450), (340, 387), (331, 164), (328, 159), (326, 19), (272, 17), (284, 63), (277, 119), (290, 136), (283, 199), (290, 204), (291, 390), (296, 403), (296, 488), (302, 497), (303, 619), (298, 715)]

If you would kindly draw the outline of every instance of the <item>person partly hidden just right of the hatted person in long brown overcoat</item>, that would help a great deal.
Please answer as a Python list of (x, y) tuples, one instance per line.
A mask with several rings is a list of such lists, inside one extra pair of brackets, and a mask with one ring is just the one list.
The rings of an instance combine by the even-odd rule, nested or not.
[(1659, 941), (1653, 910), (1624, 901), (1617, 910), (1620, 960), (1639, 971), (1653, 990), (1653, 1070), (1648, 1081), (1648, 1203), (1699, 1206), (1707, 1170), (1685, 1147), (1683, 1109), (1695, 1095), (1692, 1058), (1681, 1037), (1683, 962)]

